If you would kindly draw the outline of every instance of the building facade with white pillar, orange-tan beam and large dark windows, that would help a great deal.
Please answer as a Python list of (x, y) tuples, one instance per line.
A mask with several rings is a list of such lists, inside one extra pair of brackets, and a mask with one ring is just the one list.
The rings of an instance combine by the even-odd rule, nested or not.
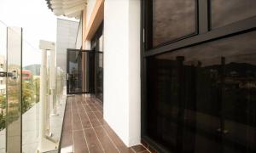
[(84, 87), (127, 146), (256, 151), (253, 0), (83, 2), (64, 12), (80, 18), (77, 48), (96, 54), (81, 56)]

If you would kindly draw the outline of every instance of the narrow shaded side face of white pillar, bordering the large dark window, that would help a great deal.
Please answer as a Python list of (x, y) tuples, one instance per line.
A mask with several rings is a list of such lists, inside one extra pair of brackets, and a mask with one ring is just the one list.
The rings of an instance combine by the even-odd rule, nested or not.
[(129, 1), (129, 143), (141, 140), (141, 1)]

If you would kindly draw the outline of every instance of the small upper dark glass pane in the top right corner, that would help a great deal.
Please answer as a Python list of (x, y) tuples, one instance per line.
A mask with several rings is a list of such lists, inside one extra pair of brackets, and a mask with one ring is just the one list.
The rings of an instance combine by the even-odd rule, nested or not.
[(255, 7), (255, 0), (211, 0), (212, 28), (253, 17)]

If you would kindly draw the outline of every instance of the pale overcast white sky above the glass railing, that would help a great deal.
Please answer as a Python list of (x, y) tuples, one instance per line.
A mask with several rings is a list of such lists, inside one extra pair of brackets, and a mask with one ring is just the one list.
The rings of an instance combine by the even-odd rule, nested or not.
[[(39, 40), (55, 42), (56, 20), (45, 0), (0, 0), (0, 21), (23, 28), (23, 65), (40, 63)], [(0, 28), (1, 49), (4, 43), (1, 22)]]

